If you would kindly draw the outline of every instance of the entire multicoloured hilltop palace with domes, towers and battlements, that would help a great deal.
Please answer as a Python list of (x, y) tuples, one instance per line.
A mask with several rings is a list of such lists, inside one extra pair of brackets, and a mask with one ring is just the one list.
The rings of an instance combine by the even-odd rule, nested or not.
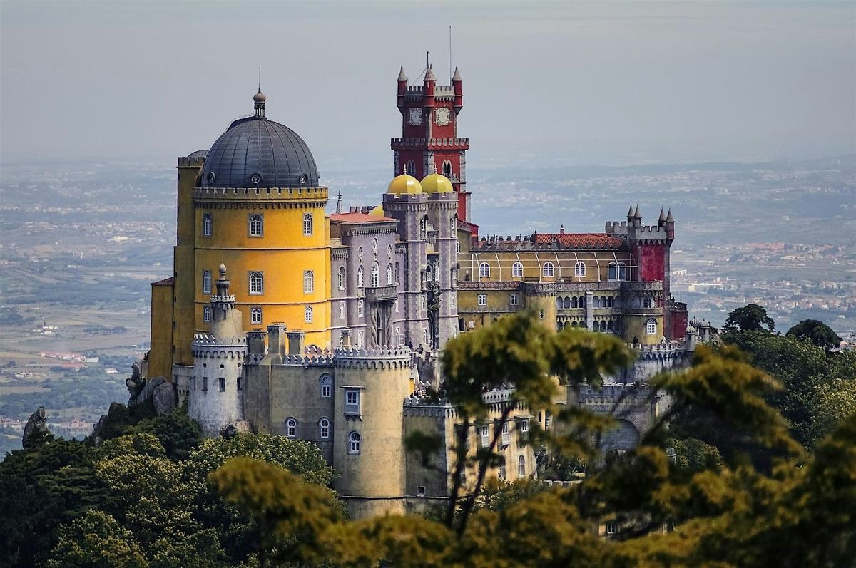
[[(404, 512), (448, 499), (449, 479), (404, 451), (413, 431), (440, 433), (448, 470), (461, 428), (454, 406), (423, 397), (443, 381), (439, 358), (457, 334), (532, 308), (550, 328), (620, 335), (639, 352), (601, 390), (557, 400), (609, 411), (604, 448), (632, 447), (658, 405), (645, 379), (684, 364), (698, 331), (669, 293), (675, 220), (645, 225), (639, 207), (603, 233), (479, 237), (467, 192), (468, 139), (458, 136), (463, 81), (397, 80), (401, 138), (394, 179), (377, 205), (325, 214), (328, 188), (312, 152), (270, 120), (266, 98), (211, 150), (178, 158), (175, 274), (152, 284), (146, 377), (173, 382), (205, 435), (229, 425), (312, 441), (340, 474), (354, 515)], [(512, 386), (485, 393), (496, 416)], [(514, 480), (535, 474), (526, 433), (549, 417), (514, 408), (503, 423)], [(473, 451), (490, 424), (469, 425)], [(379, 475), (382, 474), (382, 475)]]

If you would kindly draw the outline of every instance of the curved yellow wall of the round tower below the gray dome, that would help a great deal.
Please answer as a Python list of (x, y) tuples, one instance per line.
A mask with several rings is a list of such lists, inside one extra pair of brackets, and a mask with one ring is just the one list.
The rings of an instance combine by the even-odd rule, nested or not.
[[(324, 218), (326, 187), (298, 190), (195, 190), (194, 327), (205, 331), (205, 273), (229, 269), (230, 293), (244, 327), (284, 322), (306, 332), (306, 344), (330, 346), (330, 231)], [(205, 230), (206, 217), (210, 223)], [(251, 219), (259, 223), (251, 230)], [(308, 225), (307, 225), (308, 222)], [(250, 276), (262, 276), (261, 292)], [(311, 274), (311, 285), (306, 281)], [(261, 320), (253, 322), (258, 309)], [(311, 309), (311, 321), (307, 316)]]

